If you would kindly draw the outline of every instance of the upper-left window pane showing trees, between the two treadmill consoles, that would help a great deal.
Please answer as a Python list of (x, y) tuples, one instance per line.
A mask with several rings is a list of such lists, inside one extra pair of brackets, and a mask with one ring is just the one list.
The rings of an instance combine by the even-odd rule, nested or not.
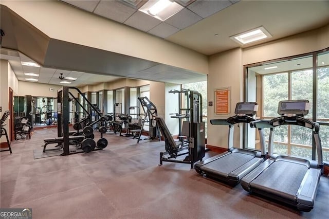
[(288, 74), (265, 75), (264, 83), (264, 116), (277, 117), (278, 104), (288, 99)]

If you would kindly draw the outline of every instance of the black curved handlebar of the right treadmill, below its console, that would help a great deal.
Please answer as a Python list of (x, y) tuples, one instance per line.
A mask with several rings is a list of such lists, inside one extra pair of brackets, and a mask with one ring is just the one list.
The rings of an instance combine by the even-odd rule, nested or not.
[(319, 134), (320, 125), (317, 122), (310, 121), (301, 116), (295, 117), (286, 117), (280, 116), (274, 119), (271, 119), (269, 122), (273, 127), (280, 125), (299, 125), (312, 129), (314, 134)]

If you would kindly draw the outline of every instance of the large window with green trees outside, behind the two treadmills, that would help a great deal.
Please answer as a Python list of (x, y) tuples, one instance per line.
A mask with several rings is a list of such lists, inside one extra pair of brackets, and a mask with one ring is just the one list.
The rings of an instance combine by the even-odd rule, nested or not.
[[(317, 59), (318, 66), (314, 66)], [(315, 71), (316, 69), (316, 71)], [(317, 83), (313, 79), (317, 78)], [(256, 101), (260, 105), (257, 117), (271, 119), (280, 116), (277, 112), (281, 100), (307, 99), (310, 102), (305, 118), (329, 122), (329, 51), (312, 53), (303, 57), (277, 62), (268, 62), (246, 68), (246, 101)], [(314, 100), (314, 94), (317, 99)], [(314, 105), (316, 104), (316, 105)], [(316, 113), (314, 113), (316, 109)], [(245, 138), (248, 139), (246, 129)], [(269, 130), (264, 130), (268, 139)], [(320, 137), (324, 161), (329, 161), (329, 126), (321, 125)], [(252, 140), (252, 137), (250, 137)], [(250, 139), (248, 139), (249, 142)], [(253, 144), (257, 141), (252, 140)], [(312, 130), (296, 125), (286, 125), (275, 129), (274, 153), (316, 158), (313, 151)], [(247, 145), (259, 148), (259, 145)]]

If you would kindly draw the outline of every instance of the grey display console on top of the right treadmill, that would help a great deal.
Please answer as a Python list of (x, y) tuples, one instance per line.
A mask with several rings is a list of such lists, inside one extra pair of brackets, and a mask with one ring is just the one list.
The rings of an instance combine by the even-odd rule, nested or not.
[(308, 114), (308, 109), (308, 100), (282, 100), (279, 102), (278, 114), (306, 116)]

